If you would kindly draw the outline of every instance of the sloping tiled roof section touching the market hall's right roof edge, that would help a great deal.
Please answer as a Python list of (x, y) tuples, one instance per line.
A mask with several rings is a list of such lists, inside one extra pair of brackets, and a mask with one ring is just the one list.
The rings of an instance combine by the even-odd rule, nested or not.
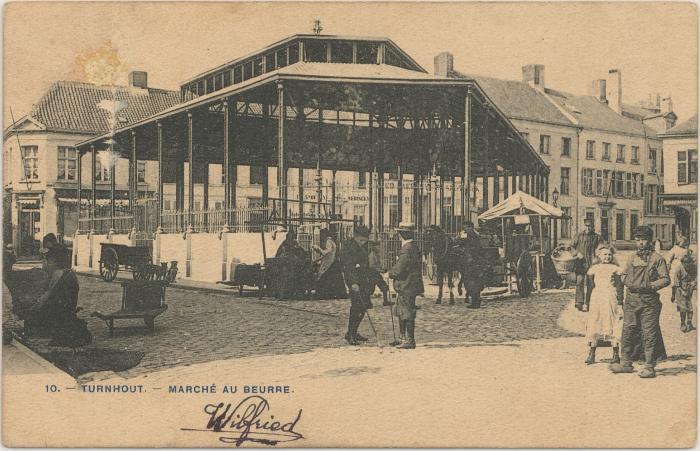
[(552, 124), (573, 125), (544, 95), (527, 83), (514, 80), (465, 75), (454, 71), (459, 78), (471, 78), (486, 92), (510, 119), (525, 119)]

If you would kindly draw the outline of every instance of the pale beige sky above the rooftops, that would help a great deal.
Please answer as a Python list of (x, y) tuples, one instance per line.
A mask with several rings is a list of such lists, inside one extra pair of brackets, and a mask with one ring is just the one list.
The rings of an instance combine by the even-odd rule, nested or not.
[[(7, 3), (3, 124), (27, 114), (58, 80), (151, 87), (182, 81), (270, 43), (311, 33), (392, 39), (429, 72), (449, 51), (455, 69), (521, 79), (544, 64), (547, 87), (586, 94), (611, 68), (625, 103), (671, 95), (679, 120), (697, 112), (697, 9), (692, 3)], [(105, 61), (108, 62), (105, 67)]]

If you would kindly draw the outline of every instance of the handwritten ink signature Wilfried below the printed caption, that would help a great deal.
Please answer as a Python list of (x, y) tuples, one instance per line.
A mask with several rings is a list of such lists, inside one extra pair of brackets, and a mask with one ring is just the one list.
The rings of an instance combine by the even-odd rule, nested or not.
[(284, 422), (270, 413), (270, 403), (262, 396), (248, 396), (236, 406), (223, 402), (207, 404), (204, 412), (208, 416), (206, 429), (182, 430), (220, 433), (221, 442), (236, 446), (247, 441), (274, 446), (304, 438), (294, 430), (301, 419), (302, 409), (294, 419)]

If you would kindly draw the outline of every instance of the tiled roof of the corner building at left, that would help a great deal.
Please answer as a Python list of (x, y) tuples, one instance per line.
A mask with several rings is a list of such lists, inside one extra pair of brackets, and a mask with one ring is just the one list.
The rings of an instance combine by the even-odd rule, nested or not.
[(122, 127), (178, 104), (180, 93), (154, 88), (59, 81), (49, 87), (29, 116), (49, 130), (105, 133), (110, 130), (111, 113), (101, 108), (100, 103), (115, 100), (126, 104), (117, 115), (118, 126)]

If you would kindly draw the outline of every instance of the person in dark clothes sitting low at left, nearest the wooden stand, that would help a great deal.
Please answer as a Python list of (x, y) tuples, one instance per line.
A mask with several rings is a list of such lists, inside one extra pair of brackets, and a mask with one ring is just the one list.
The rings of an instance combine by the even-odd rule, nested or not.
[(78, 347), (92, 341), (85, 321), (78, 319), (78, 279), (69, 268), (65, 252), (45, 248), (47, 286), (34, 300), (15, 301), (13, 310), (24, 320), (27, 335), (48, 336), (51, 346)]

